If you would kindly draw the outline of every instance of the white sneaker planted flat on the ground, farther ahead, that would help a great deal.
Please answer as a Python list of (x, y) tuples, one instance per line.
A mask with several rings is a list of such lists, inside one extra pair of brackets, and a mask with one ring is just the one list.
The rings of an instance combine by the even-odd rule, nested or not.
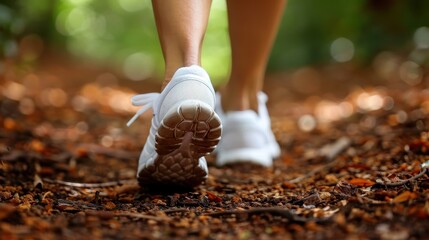
[(223, 112), (220, 94), (217, 94), (216, 112), (222, 124), (222, 139), (216, 149), (219, 166), (251, 162), (270, 167), (280, 156), (280, 147), (271, 130), (270, 117), (265, 105), (267, 96), (258, 94), (258, 112), (252, 110)]

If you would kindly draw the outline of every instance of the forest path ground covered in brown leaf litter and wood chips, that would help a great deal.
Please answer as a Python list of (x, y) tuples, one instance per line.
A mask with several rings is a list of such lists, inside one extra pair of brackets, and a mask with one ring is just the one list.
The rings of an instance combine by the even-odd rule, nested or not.
[(274, 167), (208, 156), (207, 181), (186, 190), (135, 180), (150, 113), (126, 128), (129, 97), (159, 83), (4, 66), (0, 239), (429, 239), (427, 74), (414, 86), (349, 65), (270, 74)]

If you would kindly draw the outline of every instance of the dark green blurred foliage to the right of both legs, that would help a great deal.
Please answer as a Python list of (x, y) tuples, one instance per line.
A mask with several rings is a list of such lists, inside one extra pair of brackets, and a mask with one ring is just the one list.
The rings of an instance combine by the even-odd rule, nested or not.
[(367, 63), (380, 51), (408, 50), (414, 31), (429, 23), (429, 2), (290, 0), (270, 68), (281, 70), (331, 61), (331, 43), (350, 39), (354, 60)]

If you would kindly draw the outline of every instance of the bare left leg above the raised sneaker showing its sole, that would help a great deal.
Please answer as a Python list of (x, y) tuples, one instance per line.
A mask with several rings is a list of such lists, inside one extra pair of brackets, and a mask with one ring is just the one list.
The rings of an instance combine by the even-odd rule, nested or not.
[(201, 65), (211, 0), (153, 0), (152, 4), (165, 59), (165, 87), (178, 68)]

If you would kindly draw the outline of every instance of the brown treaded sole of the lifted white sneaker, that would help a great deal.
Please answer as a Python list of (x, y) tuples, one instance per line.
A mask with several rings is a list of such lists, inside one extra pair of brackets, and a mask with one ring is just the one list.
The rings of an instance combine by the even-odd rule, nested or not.
[(194, 187), (208, 175), (204, 155), (212, 152), (222, 132), (214, 109), (198, 100), (186, 100), (161, 121), (155, 137), (158, 157), (140, 172), (141, 185)]

